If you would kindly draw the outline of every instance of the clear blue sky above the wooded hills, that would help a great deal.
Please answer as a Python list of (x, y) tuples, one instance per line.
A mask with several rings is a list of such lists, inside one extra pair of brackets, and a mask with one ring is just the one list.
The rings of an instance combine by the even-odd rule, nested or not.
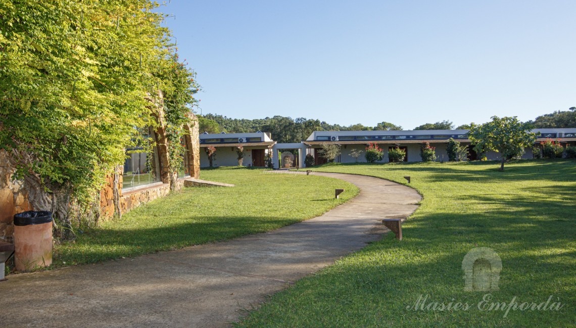
[[(576, 106), (576, 1), (184, 1), (202, 113), (412, 129)], [(198, 110), (200, 112), (200, 110)]]

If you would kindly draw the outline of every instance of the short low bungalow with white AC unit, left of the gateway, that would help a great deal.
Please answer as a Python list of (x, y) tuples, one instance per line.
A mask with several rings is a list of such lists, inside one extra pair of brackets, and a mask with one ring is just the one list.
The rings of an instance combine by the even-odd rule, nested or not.
[(270, 133), (256, 132), (246, 134), (208, 134), (204, 132), (200, 135), (200, 167), (210, 166), (210, 159), (206, 149), (214, 147), (216, 152), (213, 155), (212, 165), (216, 166), (237, 166), (238, 147), (242, 147), (244, 153), (244, 166), (266, 166), (264, 158), (276, 144), (270, 138)]

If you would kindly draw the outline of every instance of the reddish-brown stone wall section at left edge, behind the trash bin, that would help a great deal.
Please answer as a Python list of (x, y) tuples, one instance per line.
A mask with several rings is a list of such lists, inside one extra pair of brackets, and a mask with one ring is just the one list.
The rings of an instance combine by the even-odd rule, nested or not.
[(14, 214), (30, 211), (24, 182), (12, 180), (14, 169), (0, 150), (0, 241), (13, 242)]

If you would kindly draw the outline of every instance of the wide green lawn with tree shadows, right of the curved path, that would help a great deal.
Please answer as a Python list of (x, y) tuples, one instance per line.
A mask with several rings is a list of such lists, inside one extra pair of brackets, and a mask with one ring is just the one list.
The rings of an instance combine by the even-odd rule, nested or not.
[[(574, 327), (576, 162), (328, 165), (316, 170), (406, 183), (423, 194), (393, 234), (271, 296), (238, 327)], [(465, 292), (464, 255), (490, 247), (502, 259), (491, 301), (563, 304), (558, 311), (486, 310), (487, 292)], [(468, 303), (467, 311), (414, 310)], [(438, 304), (439, 305), (439, 304)], [(558, 304), (556, 304), (557, 306)], [(480, 308), (482, 310), (480, 310)], [(543, 308), (543, 307), (541, 307)]]

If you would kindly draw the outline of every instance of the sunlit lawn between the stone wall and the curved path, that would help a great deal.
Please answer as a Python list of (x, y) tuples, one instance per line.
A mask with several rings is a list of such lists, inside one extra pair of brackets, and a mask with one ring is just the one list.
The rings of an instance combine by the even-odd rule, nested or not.
[[(223, 167), (203, 170), (204, 180), (232, 188), (184, 188), (142, 205), (120, 220), (78, 234), (57, 245), (51, 268), (223, 241), (270, 231), (321, 215), (358, 193), (333, 178), (266, 173), (264, 169)], [(340, 199), (334, 189), (344, 188)]]

